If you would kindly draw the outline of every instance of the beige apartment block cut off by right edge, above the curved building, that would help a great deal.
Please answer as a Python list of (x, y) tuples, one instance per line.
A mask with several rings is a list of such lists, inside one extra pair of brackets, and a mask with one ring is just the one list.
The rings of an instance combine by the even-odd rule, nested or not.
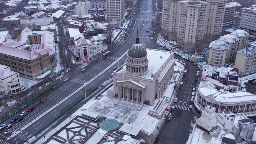
[(240, 76), (247, 76), (256, 72), (256, 46), (237, 51), (235, 68), (240, 69)]

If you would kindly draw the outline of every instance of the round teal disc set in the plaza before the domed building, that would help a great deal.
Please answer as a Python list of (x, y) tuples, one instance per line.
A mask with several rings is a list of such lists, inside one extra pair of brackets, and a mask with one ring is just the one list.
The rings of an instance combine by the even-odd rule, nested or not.
[(104, 119), (100, 122), (100, 128), (104, 131), (111, 131), (118, 128), (119, 122), (115, 119)]

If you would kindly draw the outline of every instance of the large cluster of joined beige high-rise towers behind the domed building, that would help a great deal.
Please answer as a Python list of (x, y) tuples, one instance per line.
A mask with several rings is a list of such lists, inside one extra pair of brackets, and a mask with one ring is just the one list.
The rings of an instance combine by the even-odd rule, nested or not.
[(183, 51), (195, 53), (202, 43), (219, 38), (227, 0), (164, 0), (162, 34)]

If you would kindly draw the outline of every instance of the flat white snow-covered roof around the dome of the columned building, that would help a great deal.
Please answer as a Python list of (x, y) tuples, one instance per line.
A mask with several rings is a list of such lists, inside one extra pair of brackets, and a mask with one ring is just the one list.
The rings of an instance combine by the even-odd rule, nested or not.
[[(153, 76), (158, 74), (159, 69), (163, 66), (165, 61), (172, 55), (173, 52), (167, 52), (162, 50), (147, 49), (147, 59), (149, 61), (149, 72), (144, 76), (138, 76), (145, 79), (154, 79)], [(160, 58), (162, 56), (162, 58)], [(117, 73), (127, 74), (125, 72), (126, 67), (122, 67)]]

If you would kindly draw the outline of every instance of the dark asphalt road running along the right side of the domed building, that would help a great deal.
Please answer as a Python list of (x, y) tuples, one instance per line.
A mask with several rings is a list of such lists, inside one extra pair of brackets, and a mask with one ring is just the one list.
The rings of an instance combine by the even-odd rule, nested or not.
[[(189, 134), (192, 132), (193, 123), (198, 117), (189, 109), (192, 89), (196, 88), (195, 79), (198, 65), (192, 65), (191, 61), (187, 61), (178, 55), (174, 55), (176, 59), (184, 60), (189, 70), (185, 77), (182, 77), (183, 85), (179, 87), (176, 98), (178, 101), (175, 110), (170, 110), (165, 123), (159, 131), (158, 144), (185, 144), (188, 141)], [(168, 119), (171, 118), (170, 122)]]

